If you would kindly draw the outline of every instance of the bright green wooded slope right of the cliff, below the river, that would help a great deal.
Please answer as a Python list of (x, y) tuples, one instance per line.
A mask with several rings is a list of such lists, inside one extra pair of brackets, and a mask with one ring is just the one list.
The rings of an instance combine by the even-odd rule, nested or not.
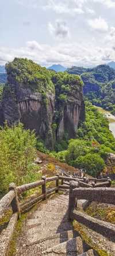
[(67, 149), (54, 155), (76, 168), (85, 168), (89, 175), (98, 176), (109, 153), (115, 153), (115, 139), (108, 120), (86, 102), (86, 120), (79, 124), (76, 139), (68, 140)]

